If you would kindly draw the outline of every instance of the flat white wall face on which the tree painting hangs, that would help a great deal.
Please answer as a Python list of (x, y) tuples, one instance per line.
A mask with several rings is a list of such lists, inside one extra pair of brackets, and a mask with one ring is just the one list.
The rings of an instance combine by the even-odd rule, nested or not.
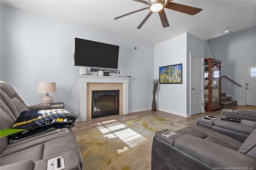
[(159, 67), (182, 63), (182, 84), (160, 84), (156, 93), (157, 109), (186, 117), (187, 33), (159, 43), (154, 49), (155, 77), (159, 77)]

